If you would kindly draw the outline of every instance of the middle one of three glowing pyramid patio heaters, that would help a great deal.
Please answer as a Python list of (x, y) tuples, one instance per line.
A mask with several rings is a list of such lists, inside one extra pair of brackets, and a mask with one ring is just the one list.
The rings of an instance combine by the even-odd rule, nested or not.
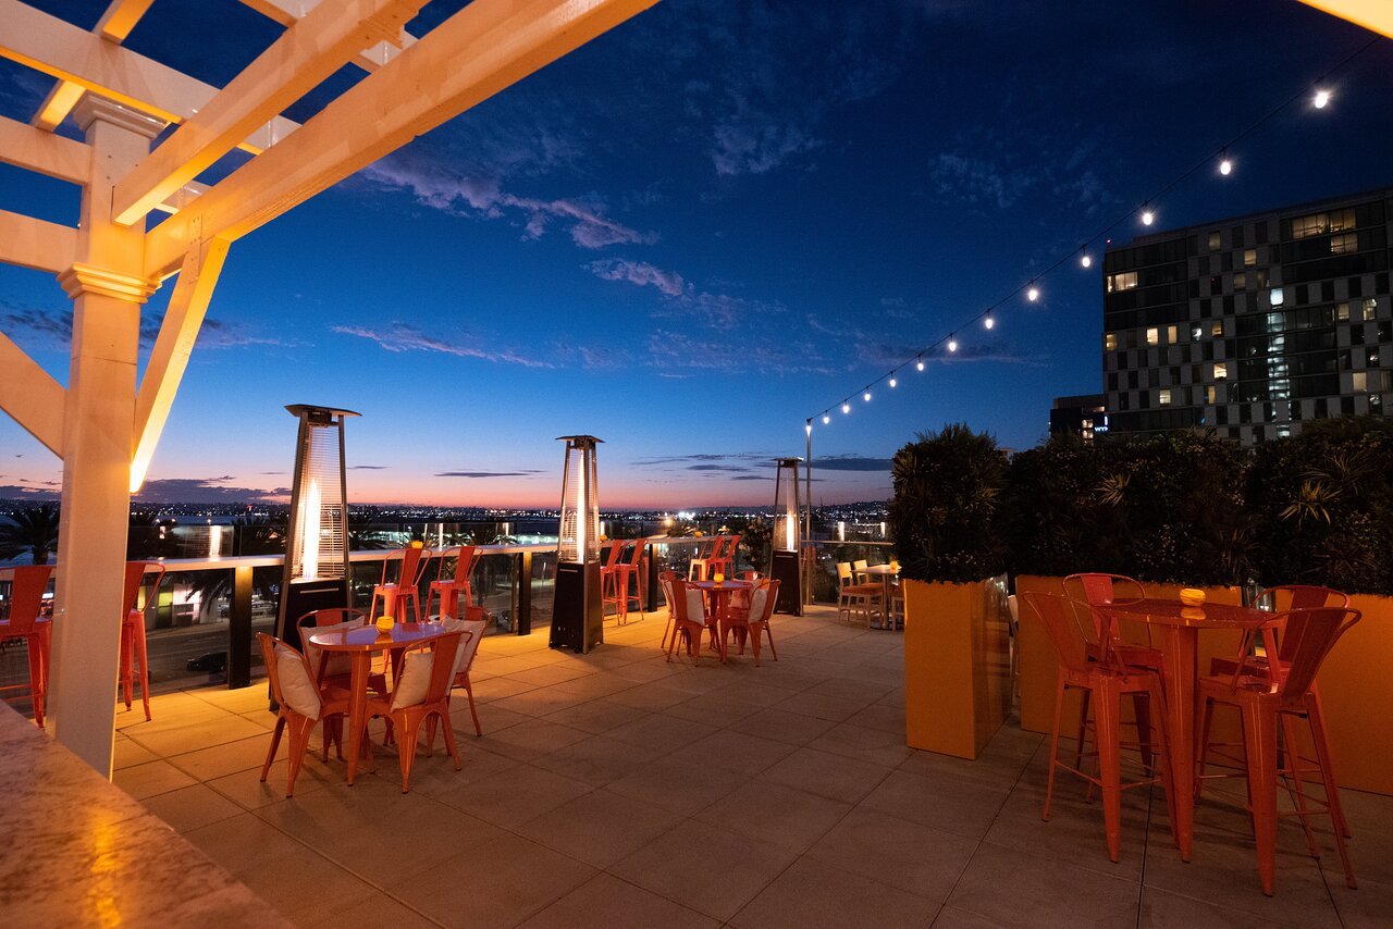
[(550, 648), (589, 652), (605, 641), (600, 603), (600, 504), (595, 482), (595, 436), (560, 436), (566, 443), (561, 472), (561, 526), (556, 547), (556, 599)]

